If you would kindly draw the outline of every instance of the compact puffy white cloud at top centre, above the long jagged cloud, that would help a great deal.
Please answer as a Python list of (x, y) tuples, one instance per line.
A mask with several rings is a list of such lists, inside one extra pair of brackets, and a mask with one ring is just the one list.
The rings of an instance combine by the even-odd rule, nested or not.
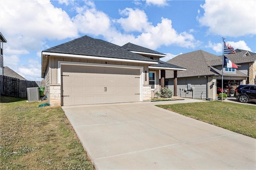
[(132, 8), (125, 8), (120, 10), (119, 13), (127, 18), (120, 18), (116, 20), (120, 23), (124, 31), (143, 31), (144, 28), (149, 27), (151, 23), (148, 22), (146, 13), (142, 10)]

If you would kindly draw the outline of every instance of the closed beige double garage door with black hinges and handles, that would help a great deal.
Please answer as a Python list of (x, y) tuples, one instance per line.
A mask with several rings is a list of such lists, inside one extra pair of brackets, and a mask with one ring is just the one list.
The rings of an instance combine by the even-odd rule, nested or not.
[(62, 105), (140, 101), (140, 70), (61, 66)]

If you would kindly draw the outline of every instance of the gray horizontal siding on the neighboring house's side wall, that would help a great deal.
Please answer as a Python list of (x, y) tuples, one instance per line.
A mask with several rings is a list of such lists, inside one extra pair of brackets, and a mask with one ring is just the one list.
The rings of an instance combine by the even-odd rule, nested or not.
[[(168, 89), (172, 90), (172, 93), (174, 93), (174, 85), (173, 85), (173, 79), (166, 79), (168, 80)], [(184, 92), (185, 88), (187, 88), (188, 84), (191, 84), (191, 87), (194, 88), (192, 91)], [(207, 84), (207, 78), (204, 76), (202, 77), (193, 77), (193, 78), (178, 78), (177, 82), (177, 96), (183, 97), (183, 98), (206, 98), (206, 84)]]

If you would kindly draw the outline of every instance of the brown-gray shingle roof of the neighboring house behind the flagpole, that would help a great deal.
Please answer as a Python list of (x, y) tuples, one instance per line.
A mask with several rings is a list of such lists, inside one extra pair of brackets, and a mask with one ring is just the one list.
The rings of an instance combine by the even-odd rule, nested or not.
[[(246, 51), (247, 52), (247, 51)], [(234, 56), (240, 56), (235, 58), (240, 58), (240, 61), (249, 61), (252, 60), (252, 58), (246, 58), (241, 59), (241, 55), (245, 54), (246, 52), (240, 52), (240, 54), (229, 54), (226, 55), (228, 59), (230, 59), (233, 62), (233, 58), (230, 57), (231, 55)], [(249, 56), (246, 56), (249, 57)], [(234, 59), (235, 59), (234, 58)], [(234, 60), (236, 61), (236, 60)], [(217, 68), (214, 68), (213, 66), (222, 65), (222, 56), (213, 55), (211, 53), (207, 53), (202, 50), (193, 51), (190, 53), (178, 55), (174, 57), (173, 59), (170, 59), (167, 61), (167, 63), (172, 63), (175, 65), (182, 66), (186, 68), (186, 71), (179, 71), (177, 73), (178, 77), (194, 77), (194, 76), (211, 76), (211, 75), (221, 75), (222, 71), (218, 70)], [(233, 62), (235, 63), (235, 62)], [(224, 74), (224, 76), (243, 76), (246, 77), (247, 75), (240, 72), (239, 70), (236, 70), (235, 74)], [(166, 71), (166, 78), (173, 78), (173, 72), (172, 71)]]

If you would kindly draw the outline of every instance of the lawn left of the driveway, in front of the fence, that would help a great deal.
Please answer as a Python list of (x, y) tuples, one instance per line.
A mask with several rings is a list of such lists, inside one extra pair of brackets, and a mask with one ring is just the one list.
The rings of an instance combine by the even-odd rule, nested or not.
[(1, 96), (1, 170), (93, 170), (61, 107)]

